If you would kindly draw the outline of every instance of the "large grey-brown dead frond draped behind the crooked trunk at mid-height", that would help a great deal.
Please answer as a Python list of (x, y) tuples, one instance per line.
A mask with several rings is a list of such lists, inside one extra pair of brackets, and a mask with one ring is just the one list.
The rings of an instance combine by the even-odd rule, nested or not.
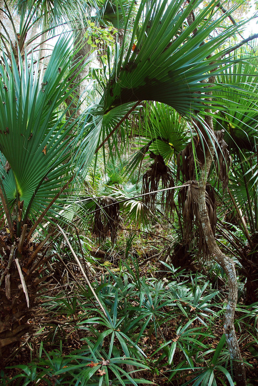
[[(181, 225), (181, 214), (183, 218), (183, 240), (187, 245), (198, 247), (198, 256), (208, 256), (208, 246), (204, 239), (203, 227), (200, 223), (198, 196), (199, 186), (197, 181), (187, 181), (189, 186), (183, 186), (179, 189), (179, 223)], [(215, 235), (217, 215), (216, 198), (214, 189), (210, 184), (206, 185), (206, 208), (211, 223), (211, 229)]]

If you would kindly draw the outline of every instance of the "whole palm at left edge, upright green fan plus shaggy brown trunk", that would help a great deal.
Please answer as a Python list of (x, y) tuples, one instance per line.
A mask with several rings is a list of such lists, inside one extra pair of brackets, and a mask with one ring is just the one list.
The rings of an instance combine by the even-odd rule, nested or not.
[(42, 255), (39, 261), (38, 253), (52, 231), (34, 248), (31, 235), (53, 203), (69, 193), (78, 172), (71, 157), (79, 143), (77, 123), (65, 119), (69, 106), (64, 105), (67, 93), (73, 92), (69, 39), (59, 39), (39, 77), (39, 62), (35, 71), (33, 62), (33, 56), (30, 61), (25, 56), (24, 62), (20, 56), (19, 67), (14, 57), (11, 68), (7, 60), (0, 66), (2, 227), (6, 219), (6, 232), (0, 236), (0, 348), (6, 354), (5, 346), (17, 342), (30, 327), (26, 309), (34, 303), (37, 269), (45, 260)]

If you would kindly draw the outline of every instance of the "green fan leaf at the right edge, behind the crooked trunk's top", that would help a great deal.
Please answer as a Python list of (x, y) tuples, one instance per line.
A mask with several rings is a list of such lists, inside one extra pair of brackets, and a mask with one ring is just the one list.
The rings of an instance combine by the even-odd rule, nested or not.
[[(232, 59), (236, 59), (236, 56)], [(255, 146), (254, 133), (257, 135), (258, 124), (258, 76), (255, 64), (245, 61), (224, 69), (213, 91), (218, 102), (227, 103), (214, 116), (214, 129), (225, 130), (224, 139), (230, 149), (252, 150)], [(225, 84), (229, 87), (220, 86)]]

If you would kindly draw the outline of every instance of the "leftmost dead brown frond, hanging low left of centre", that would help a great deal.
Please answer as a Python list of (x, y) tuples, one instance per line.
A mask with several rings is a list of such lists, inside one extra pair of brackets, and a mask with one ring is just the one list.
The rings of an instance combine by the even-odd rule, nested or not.
[(112, 244), (116, 242), (118, 223), (118, 201), (113, 197), (98, 198), (95, 207), (92, 233), (99, 239), (99, 243), (105, 241), (109, 234)]

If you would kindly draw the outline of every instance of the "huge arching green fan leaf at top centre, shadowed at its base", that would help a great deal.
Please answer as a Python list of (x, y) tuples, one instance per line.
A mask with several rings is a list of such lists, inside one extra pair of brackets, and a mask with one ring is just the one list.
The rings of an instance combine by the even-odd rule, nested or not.
[[(226, 17), (223, 15), (213, 21), (210, 14), (215, 5), (210, 2), (196, 16), (193, 24), (184, 25), (181, 30), (186, 17), (197, 6), (190, 2), (182, 11), (183, 3), (179, 1), (167, 5), (166, 1), (157, 3), (154, 0), (145, 12), (146, 3), (141, 2), (131, 40), (126, 45), (124, 39), (121, 49), (116, 50), (110, 81), (101, 102), (104, 113), (137, 100), (166, 103), (181, 115), (190, 115), (194, 110), (204, 108), (201, 102), (204, 101), (202, 93), (206, 85), (199, 82), (218, 67), (216, 58), (219, 54), (213, 53), (236, 27), (210, 38), (209, 34)], [(138, 32), (141, 17), (143, 23)], [(202, 28), (193, 34), (199, 24)], [(127, 29), (128, 24), (125, 26), (126, 34), (129, 32)], [(133, 44), (136, 48), (131, 52)], [(209, 55), (212, 55), (211, 58), (206, 59)], [(216, 69), (214, 74), (219, 71)]]

